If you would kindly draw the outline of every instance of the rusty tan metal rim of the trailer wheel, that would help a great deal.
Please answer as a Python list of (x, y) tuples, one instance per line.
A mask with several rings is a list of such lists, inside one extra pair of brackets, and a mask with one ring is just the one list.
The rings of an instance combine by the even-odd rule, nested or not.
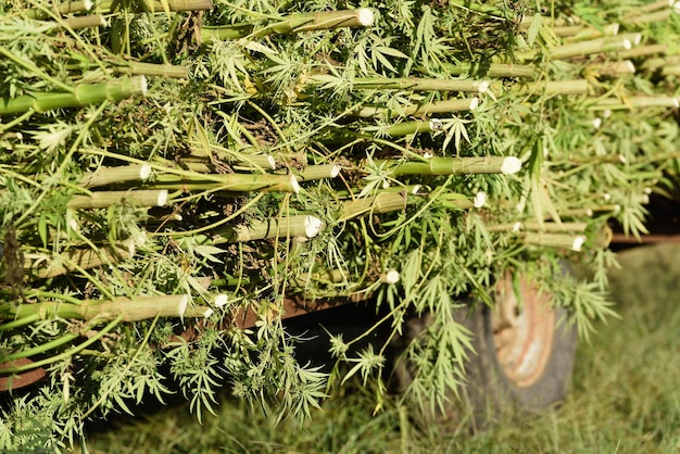
[(515, 386), (527, 388), (541, 378), (550, 360), (555, 313), (550, 294), (524, 278), (519, 279), (518, 293), (513, 289), (512, 276), (506, 275), (496, 286), (491, 323), (503, 373)]

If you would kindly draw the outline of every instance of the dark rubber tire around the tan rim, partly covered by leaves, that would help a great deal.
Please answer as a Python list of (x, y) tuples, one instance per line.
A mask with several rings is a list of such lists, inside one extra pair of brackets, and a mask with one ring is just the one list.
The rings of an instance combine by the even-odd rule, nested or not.
[[(476, 304), (455, 314), (455, 319), (473, 333), (473, 348), (466, 364), (467, 382), (458, 389), (457, 399), (451, 395), (444, 414), (421, 412), (421, 403), (411, 403), (420, 423), (436, 424), (443, 431), (465, 430), (477, 432), (494, 426), (505, 418), (521, 418), (530, 413), (554, 406), (562, 402), (571, 386), (576, 357), (577, 336), (574, 326), (566, 323), (565, 311), (555, 313), (555, 331), (550, 357), (541, 376), (529, 387), (519, 388), (504, 375), (493, 343), (491, 313), (487, 305)], [(403, 351), (404, 343), (415, 339), (427, 326), (428, 316), (406, 323), (404, 339), (395, 345)], [(408, 367), (396, 363), (395, 377), (401, 390), (410, 382)]]

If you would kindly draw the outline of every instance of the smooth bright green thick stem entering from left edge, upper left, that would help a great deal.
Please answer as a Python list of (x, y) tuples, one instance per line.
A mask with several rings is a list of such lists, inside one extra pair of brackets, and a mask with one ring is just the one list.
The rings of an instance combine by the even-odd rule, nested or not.
[(73, 92), (41, 92), (13, 99), (0, 99), (0, 115), (34, 110), (47, 112), (54, 109), (81, 108), (103, 101), (121, 101), (147, 93), (144, 76), (125, 77), (102, 84), (80, 85)]

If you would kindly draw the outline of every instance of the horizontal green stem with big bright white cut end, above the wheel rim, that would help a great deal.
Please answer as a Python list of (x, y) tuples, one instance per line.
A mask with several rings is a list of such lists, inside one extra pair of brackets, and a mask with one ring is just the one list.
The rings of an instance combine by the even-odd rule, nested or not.
[(515, 174), (521, 162), (514, 156), (431, 157), (425, 161), (376, 160), (393, 176), (399, 175), (468, 175)]

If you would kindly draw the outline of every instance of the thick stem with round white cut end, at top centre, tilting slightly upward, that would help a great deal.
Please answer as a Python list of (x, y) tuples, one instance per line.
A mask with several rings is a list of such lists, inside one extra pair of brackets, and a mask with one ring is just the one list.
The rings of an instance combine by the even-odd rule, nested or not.
[(210, 42), (219, 39), (239, 39), (247, 36), (262, 38), (268, 35), (288, 35), (340, 27), (369, 27), (373, 25), (373, 11), (367, 8), (301, 13), (281, 17), (280, 21), (262, 28), (255, 28), (252, 24), (203, 27), (201, 38), (203, 41)]

